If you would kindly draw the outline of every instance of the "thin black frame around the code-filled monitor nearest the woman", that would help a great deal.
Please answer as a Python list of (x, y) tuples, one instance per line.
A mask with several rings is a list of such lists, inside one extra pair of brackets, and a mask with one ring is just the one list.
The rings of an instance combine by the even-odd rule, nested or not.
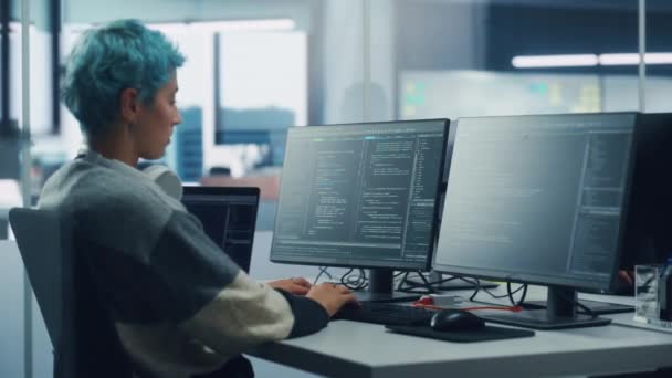
[[(443, 171), (444, 171), (444, 164), (445, 164), (445, 147), (447, 147), (447, 143), (448, 143), (448, 134), (450, 130), (450, 119), (448, 118), (429, 118), (429, 119), (405, 119), (405, 120), (385, 120), (385, 122), (364, 122), (364, 123), (348, 123), (348, 124), (327, 124), (327, 125), (313, 125), (313, 126), (294, 126), (294, 127), (290, 127), (287, 129), (287, 140), (285, 144), (285, 154), (287, 153), (287, 145), (290, 143), (290, 139), (292, 138), (292, 135), (295, 133), (301, 133), (301, 130), (305, 129), (305, 127), (315, 127), (318, 126), (318, 128), (316, 129), (322, 129), (323, 127), (325, 129), (329, 128), (333, 130), (333, 127), (367, 127), (367, 126), (382, 126), (382, 125), (395, 125), (395, 126), (399, 126), (402, 127), (403, 125), (408, 125), (408, 124), (418, 124), (418, 123), (442, 123), (443, 126), (443, 141), (442, 141), (442, 147), (441, 147), (441, 161), (440, 161), (440, 171), (438, 175), (438, 179), (437, 179), (437, 191), (435, 191), (435, 197), (434, 197), (434, 214), (433, 214), (433, 219), (434, 221), (432, 221), (432, 228), (431, 228), (431, 232), (430, 232), (430, 240), (431, 242), (429, 243), (429, 250), (427, 252), (427, 258), (424, 259), (424, 261), (422, 263), (414, 263), (414, 262), (399, 262), (399, 261), (395, 261), (393, 263), (370, 263), (370, 261), (348, 261), (348, 262), (344, 262), (344, 260), (330, 260), (330, 259), (326, 259), (323, 256), (317, 256), (315, 259), (312, 259), (314, 261), (309, 261), (311, 259), (306, 259), (305, 256), (300, 256), (296, 259), (292, 259), (288, 258), (284, 254), (282, 255), (277, 255), (273, 253), (273, 246), (275, 245), (275, 235), (277, 232), (277, 228), (280, 224), (280, 209), (281, 209), (281, 203), (282, 203), (282, 188), (283, 188), (283, 183), (282, 183), (282, 179), (281, 179), (281, 185), (280, 185), (280, 190), (279, 190), (279, 196), (277, 196), (277, 210), (275, 211), (275, 223), (273, 225), (273, 239), (271, 241), (271, 252), (270, 252), (270, 260), (274, 263), (283, 263), (283, 264), (297, 264), (297, 265), (308, 265), (308, 266), (334, 266), (334, 267), (354, 267), (354, 269), (392, 269), (396, 271), (417, 271), (417, 270), (423, 270), (423, 271), (429, 271), (432, 264), (432, 260), (433, 260), (433, 252), (434, 252), (434, 242), (435, 242), (435, 238), (437, 238), (437, 232), (439, 232), (439, 228), (438, 228), (438, 222), (437, 222), (437, 217), (439, 217), (439, 204), (440, 204), (440, 195), (441, 195), (441, 185), (443, 183)], [(285, 155), (286, 156), (286, 155)], [(286, 160), (285, 160), (286, 161)], [(283, 166), (284, 169), (284, 166)]]

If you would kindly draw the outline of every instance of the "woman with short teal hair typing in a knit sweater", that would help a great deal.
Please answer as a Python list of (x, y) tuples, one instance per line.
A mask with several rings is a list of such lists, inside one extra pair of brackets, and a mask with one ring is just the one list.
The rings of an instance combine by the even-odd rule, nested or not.
[(88, 149), (50, 178), (39, 203), (76, 222), (77, 248), (137, 376), (220, 369), (251, 346), (319, 330), (355, 301), (343, 286), (303, 279), (252, 281), (179, 201), (135, 169), (139, 158), (165, 154), (181, 120), (175, 97), (183, 61), (138, 21), (84, 33), (63, 101)]

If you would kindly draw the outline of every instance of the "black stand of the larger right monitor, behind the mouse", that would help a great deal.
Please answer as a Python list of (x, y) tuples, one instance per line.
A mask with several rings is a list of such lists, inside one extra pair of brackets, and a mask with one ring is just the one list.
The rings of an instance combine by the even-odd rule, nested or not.
[(480, 314), (486, 322), (535, 329), (595, 327), (611, 319), (577, 314), (577, 291), (570, 287), (549, 286), (546, 309), (524, 309), (521, 313)]

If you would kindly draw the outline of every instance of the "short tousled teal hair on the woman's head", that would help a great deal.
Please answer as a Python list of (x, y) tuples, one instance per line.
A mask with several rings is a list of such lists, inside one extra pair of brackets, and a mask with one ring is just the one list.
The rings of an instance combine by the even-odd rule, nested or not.
[(166, 85), (185, 56), (166, 36), (137, 20), (86, 31), (72, 51), (62, 98), (87, 136), (108, 132), (119, 116), (119, 95), (135, 88), (145, 104)]

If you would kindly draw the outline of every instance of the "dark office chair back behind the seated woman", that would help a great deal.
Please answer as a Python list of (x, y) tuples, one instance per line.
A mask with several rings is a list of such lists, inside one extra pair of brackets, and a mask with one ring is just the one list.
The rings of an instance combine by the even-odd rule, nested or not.
[(52, 211), (20, 208), (9, 220), (52, 342), (53, 377), (132, 377), (86, 254), (77, 251), (74, 224)]

